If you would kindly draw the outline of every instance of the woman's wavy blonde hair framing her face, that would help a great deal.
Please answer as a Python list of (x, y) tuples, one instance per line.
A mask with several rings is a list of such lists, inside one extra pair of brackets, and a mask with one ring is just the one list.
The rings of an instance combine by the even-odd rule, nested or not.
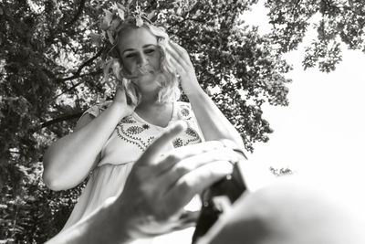
[[(169, 102), (169, 101), (177, 101), (180, 98), (180, 89), (179, 89), (179, 79), (177, 73), (172, 65), (172, 62), (167, 57), (168, 54), (166, 52), (166, 46), (169, 41), (169, 36), (161, 27), (155, 27), (149, 23), (149, 21), (143, 21), (144, 27), (151, 31), (151, 33), (157, 38), (157, 48), (161, 52), (160, 59), (160, 69), (161, 75), (159, 76), (158, 82), (160, 83), (161, 90), (158, 93), (158, 101), (159, 102)], [(126, 18), (121, 24), (120, 27), (116, 29), (116, 37), (115, 43), (110, 48), (109, 55), (112, 59), (112, 74), (116, 78), (117, 82), (120, 83), (122, 89), (125, 90), (127, 98), (130, 99), (132, 104), (139, 104), (141, 102), (141, 91), (137, 87), (136, 84), (129, 79), (129, 76), (123, 70), (123, 66), (121, 64), (121, 57), (119, 50), (117, 48), (117, 44), (122, 38), (122, 34), (127, 32), (128, 30), (136, 27), (136, 19), (134, 17)], [(106, 75), (105, 79), (108, 80), (109, 69), (104, 70), (104, 74)]]

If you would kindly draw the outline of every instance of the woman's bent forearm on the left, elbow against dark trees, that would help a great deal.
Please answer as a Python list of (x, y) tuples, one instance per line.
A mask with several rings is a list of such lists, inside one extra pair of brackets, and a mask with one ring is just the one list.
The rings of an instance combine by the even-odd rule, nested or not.
[(87, 175), (102, 146), (123, 117), (120, 107), (110, 105), (75, 133), (53, 143), (44, 156), (44, 178), (54, 190), (77, 186)]

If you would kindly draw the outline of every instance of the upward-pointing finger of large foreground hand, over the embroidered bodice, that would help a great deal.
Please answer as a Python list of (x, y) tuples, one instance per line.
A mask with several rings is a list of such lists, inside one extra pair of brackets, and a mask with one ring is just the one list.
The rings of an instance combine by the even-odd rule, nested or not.
[(176, 135), (183, 132), (187, 127), (186, 122), (175, 122), (166, 132), (157, 138), (141, 155), (136, 164), (153, 164), (162, 153), (162, 149), (172, 141)]

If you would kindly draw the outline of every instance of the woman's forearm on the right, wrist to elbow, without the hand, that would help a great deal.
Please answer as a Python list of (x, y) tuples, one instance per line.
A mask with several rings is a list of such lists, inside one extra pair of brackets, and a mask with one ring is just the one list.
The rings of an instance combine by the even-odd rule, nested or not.
[(244, 147), (235, 127), (200, 87), (190, 91), (187, 96), (206, 141), (230, 139), (240, 147)]

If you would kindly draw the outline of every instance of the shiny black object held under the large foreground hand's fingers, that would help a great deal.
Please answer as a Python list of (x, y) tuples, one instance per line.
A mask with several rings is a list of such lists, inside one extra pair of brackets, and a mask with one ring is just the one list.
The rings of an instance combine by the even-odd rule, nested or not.
[(246, 189), (243, 175), (236, 163), (232, 175), (227, 175), (203, 191), (203, 206), (193, 233), (193, 243), (214, 225), (224, 212), (224, 206), (233, 204)]

